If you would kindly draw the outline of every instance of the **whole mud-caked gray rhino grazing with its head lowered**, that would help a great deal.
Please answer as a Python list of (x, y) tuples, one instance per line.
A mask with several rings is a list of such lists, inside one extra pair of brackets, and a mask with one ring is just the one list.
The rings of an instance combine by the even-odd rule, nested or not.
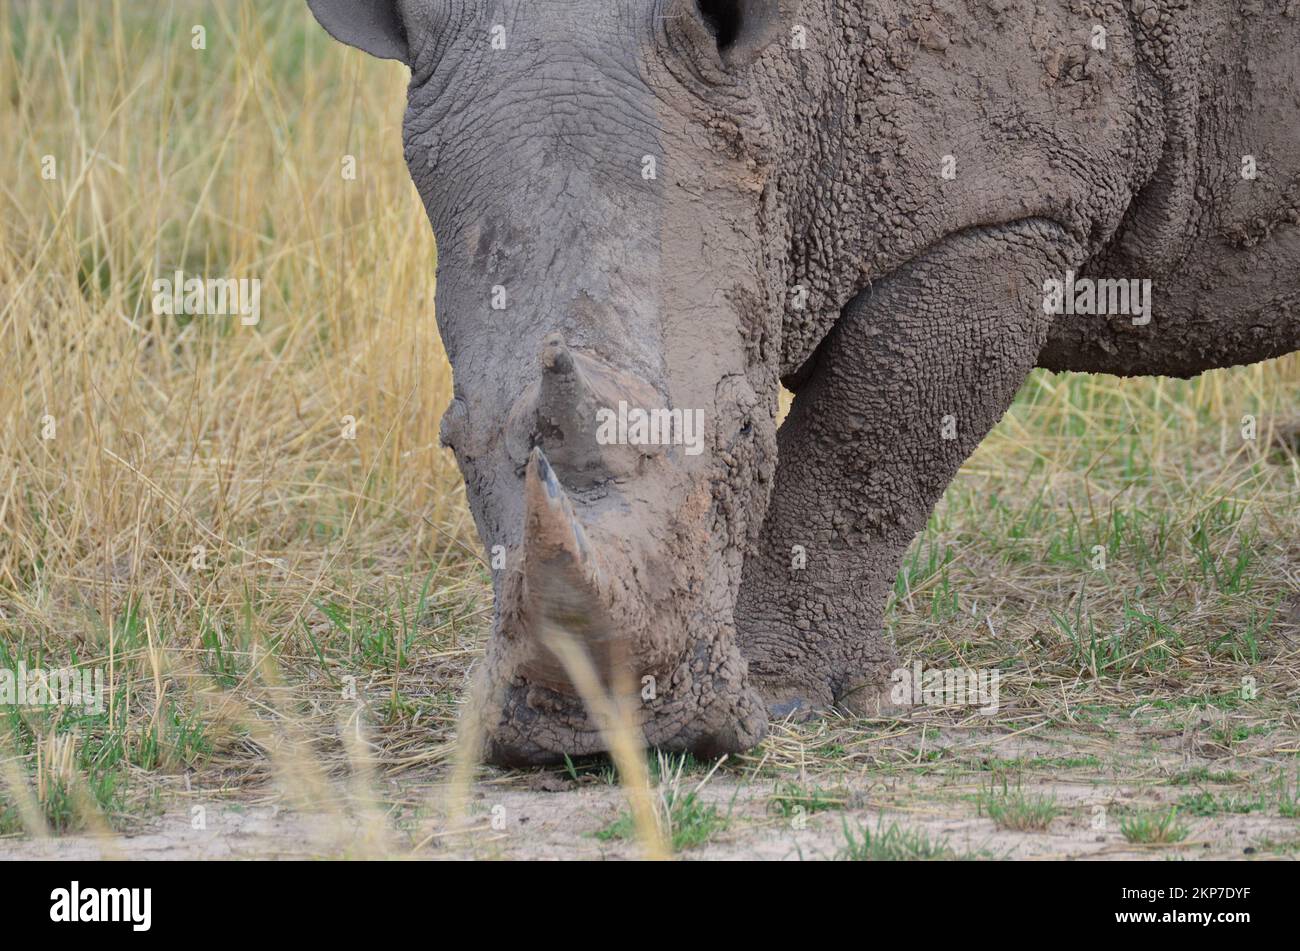
[[(1294, 3), (309, 3), (411, 68), (498, 763), (603, 748), (556, 630), (664, 748), (880, 709), (902, 553), (1034, 366), (1300, 348)], [(1048, 316), (1067, 269), (1154, 281), (1153, 320)], [(702, 409), (705, 451), (599, 446), (620, 399)]]

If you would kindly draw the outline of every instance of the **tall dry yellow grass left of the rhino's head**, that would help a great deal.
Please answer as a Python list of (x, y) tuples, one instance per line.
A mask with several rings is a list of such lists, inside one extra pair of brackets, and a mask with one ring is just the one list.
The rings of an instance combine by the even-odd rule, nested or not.
[[(438, 603), (482, 600), (404, 75), (317, 32), (300, 4), (0, 17), (0, 637), (107, 666), (129, 722), (178, 689), (146, 620), (173, 664), (255, 679), (317, 604), (436, 565)], [(177, 268), (259, 278), (260, 323), (155, 316)]]

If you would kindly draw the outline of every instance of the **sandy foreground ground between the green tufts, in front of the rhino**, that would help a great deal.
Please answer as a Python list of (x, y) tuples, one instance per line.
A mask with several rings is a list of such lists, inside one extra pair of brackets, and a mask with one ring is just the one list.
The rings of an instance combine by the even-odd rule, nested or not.
[[(888, 825), (922, 831), (950, 854), (971, 859), (1284, 859), (1300, 848), (1300, 820), (1275, 807), (1248, 807), (1242, 815), (1197, 816), (1188, 796), (1249, 803), (1265, 796), (1264, 778), (1253, 782), (1238, 770), (1290, 747), (1242, 750), (1228, 756), (1188, 743), (1188, 730), (1135, 729), (1109, 735), (928, 731), (930, 751), (913, 763), (859, 768), (855, 754), (836, 770), (824, 760), (815, 773), (794, 780), (818, 787), (836, 805), (811, 815), (780, 815), (774, 791), (788, 789), (786, 770), (774, 773), (762, 759), (724, 768), (711, 777), (686, 773), (684, 791), (699, 786), (701, 803), (720, 820), (703, 844), (682, 850), (688, 860), (837, 857), (845, 829), (861, 833)], [(1157, 735), (1158, 734), (1158, 735)], [(1043, 831), (1000, 829), (983, 815), (982, 790), (991, 789), (989, 763), (1019, 764), (1017, 787), (1054, 796), (1057, 815)], [(1070, 764), (1074, 765), (1070, 765)], [(1109, 763), (1110, 765), (1101, 765)], [(1062, 765), (1065, 764), (1065, 765)], [(998, 773), (1005, 774), (1005, 773)], [(1178, 777), (1209, 776), (1205, 782)], [(1238, 777), (1230, 785), (1213, 777)], [(702, 783), (702, 785), (701, 785)], [(448, 834), (442, 815), (443, 786), (430, 778), (386, 782), (382, 802), (358, 808), (341, 786), (329, 809), (290, 808), (273, 790), (251, 802), (205, 796), (165, 805), (161, 815), (113, 837), (73, 835), (30, 841), (0, 839), (0, 859), (311, 859), (393, 856), (415, 859), (625, 859), (637, 857), (634, 841), (601, 838), (624, 815), (627, 804), (608, 776), (563, 773), (489, 774), (473, 791), (465, 831)], [(1174, 844), (1135, 844), (1122, 824), (1136, 813), (1160, 813), (1179, 805), (1186, 838)], [(200, 811), (195, 811), (195, 809)], [(373, 821), (367, 821), (369, 815)], [(433, 818), (430, 818), (433, 817)], [(202, 821), (199, 821), (202, 820)], [(196, 828), (200, 826), (200, 828)]]

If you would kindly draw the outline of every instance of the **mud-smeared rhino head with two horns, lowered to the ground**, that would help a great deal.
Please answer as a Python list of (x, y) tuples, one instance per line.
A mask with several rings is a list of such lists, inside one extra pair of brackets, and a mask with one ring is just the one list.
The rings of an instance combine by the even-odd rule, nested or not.
[(634, 686), (650, 744), (751, 747), (733, 608), (776, 463), (788, 235), (749, 81), (792, 3), (308, 3), (411, 69), (442, 438), (495, 568), (486, 756), (604, 748), (549, 629)]

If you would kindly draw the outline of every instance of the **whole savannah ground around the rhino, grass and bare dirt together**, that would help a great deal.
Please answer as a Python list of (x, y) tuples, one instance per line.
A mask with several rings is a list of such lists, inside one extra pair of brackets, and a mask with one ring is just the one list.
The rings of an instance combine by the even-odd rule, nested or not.
[[(490, 579), (404, 82), (300, 3), (0, 0), (0, 668), (108, 699), (0, 708), (0, 857), (644, 854), (603, 761), (481, 769), (454, 821)], [(260, 278), (260, 322), (155, 316), (176, 269)], [(1297, 357), (1035, 373), (888, 613), (907, 663), (996, 668), (998, 711), (651, 756), (662, 838), (1300, 854), (1297, 446)]]

